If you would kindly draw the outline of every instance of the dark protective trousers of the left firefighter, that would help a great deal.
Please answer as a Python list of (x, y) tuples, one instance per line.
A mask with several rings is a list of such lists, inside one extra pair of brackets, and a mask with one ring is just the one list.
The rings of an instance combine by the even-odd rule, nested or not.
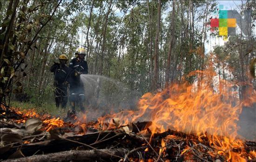
[(56, 107), (66, 108), (67, 106), (67, 87), (55, 87), (54, 91)]

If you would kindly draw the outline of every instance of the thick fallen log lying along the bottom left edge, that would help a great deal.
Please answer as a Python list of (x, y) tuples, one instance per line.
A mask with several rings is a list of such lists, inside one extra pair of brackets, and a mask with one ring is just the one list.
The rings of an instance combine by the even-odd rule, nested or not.
[(101, 149), (99, 150), (70, 150), (45, 155), (35, 155), (17, 159), (8, 159), (2, 162), (83, 162), (95, 160), (120, 159), (125, 156), (123, 149)]

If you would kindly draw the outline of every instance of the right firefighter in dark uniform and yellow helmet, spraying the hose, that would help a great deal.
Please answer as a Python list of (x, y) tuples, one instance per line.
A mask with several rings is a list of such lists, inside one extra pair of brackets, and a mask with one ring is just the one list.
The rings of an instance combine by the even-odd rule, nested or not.
[(70, 75), (70, 102), (72, 111), (74, 111), (75, 106), (79, 106), (81, 111), (84, 111), (85, 94), (80, 75), (88, 74), (88, 65), (84, 60), (85, 49), (78, 49), (76, 55), (77, 57), (72, 59), (69, 64), (69, 68), (73, 70)]

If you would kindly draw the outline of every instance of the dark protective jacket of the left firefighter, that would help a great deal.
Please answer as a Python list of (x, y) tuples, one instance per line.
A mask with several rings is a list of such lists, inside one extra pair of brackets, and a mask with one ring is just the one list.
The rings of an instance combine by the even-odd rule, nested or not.
[(54, 86), (62, 87), (66, 81), (69, 82), (71, 69), (65, 64), (54, 63), (50, 71), (54, 73)]

